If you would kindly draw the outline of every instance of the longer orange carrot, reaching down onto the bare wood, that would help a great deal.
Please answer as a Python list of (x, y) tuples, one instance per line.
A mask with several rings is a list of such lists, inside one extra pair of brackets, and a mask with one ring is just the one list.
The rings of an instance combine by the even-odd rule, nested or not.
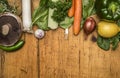
[(78, 35), (80, 32), (81, 18), (82, 18), (82, 0), (75, 0), (75, 14), (73, 23), (74, 35)]

